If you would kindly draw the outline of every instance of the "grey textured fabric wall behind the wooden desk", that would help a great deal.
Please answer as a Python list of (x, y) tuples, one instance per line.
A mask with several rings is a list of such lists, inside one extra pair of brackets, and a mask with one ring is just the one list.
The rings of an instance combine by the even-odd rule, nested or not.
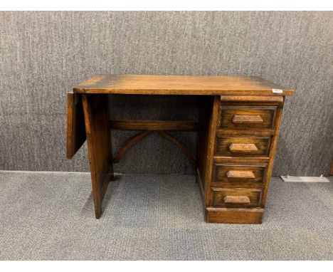
[[(259, 75), (287, 98), (273, 174), (327, 173), (333, 154), (332, 12), (0, 12), (0, 169), (88, 171), (65, 159), (65, 95), (96, 73)], [(197, 98), (117, 96), (112, 117), (196, 120)], [(142, 106), (142, 107), (141, 107)], [(143, 109), (144, 108), (144, 109)], [(112, 132), (114, 150), (133, 132)], [(192, 150), (194, 132), (177, 132)], [(117, 172), (191, 173), (152, 135)]]

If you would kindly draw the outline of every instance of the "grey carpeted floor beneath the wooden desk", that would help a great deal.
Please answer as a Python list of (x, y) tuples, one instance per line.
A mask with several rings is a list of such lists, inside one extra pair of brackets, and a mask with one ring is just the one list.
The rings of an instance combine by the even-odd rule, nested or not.
[(333, 260), (333, 182), (274, 178), (263, 224), (206, 224), (192, 176), (0, 172), (1, 260)]

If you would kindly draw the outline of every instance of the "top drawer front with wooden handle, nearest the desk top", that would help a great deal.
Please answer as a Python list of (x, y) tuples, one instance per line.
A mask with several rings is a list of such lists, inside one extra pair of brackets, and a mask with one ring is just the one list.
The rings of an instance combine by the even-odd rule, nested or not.
[(221, 106), (218, 128), (274, 129), (277, 107)]

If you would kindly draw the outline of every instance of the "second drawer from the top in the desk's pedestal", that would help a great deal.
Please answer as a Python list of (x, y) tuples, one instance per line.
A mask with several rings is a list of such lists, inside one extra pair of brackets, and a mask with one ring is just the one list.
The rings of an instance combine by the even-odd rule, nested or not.
[(215, 155), (226, 157), (268, 157), (271, 137), (216, 136)]

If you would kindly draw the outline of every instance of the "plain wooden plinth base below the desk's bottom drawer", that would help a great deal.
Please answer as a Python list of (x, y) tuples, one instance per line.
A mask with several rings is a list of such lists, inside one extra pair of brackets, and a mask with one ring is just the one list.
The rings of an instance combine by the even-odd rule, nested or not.
[(261, 224), (263, 209), (206, 208), (207, 223)]

